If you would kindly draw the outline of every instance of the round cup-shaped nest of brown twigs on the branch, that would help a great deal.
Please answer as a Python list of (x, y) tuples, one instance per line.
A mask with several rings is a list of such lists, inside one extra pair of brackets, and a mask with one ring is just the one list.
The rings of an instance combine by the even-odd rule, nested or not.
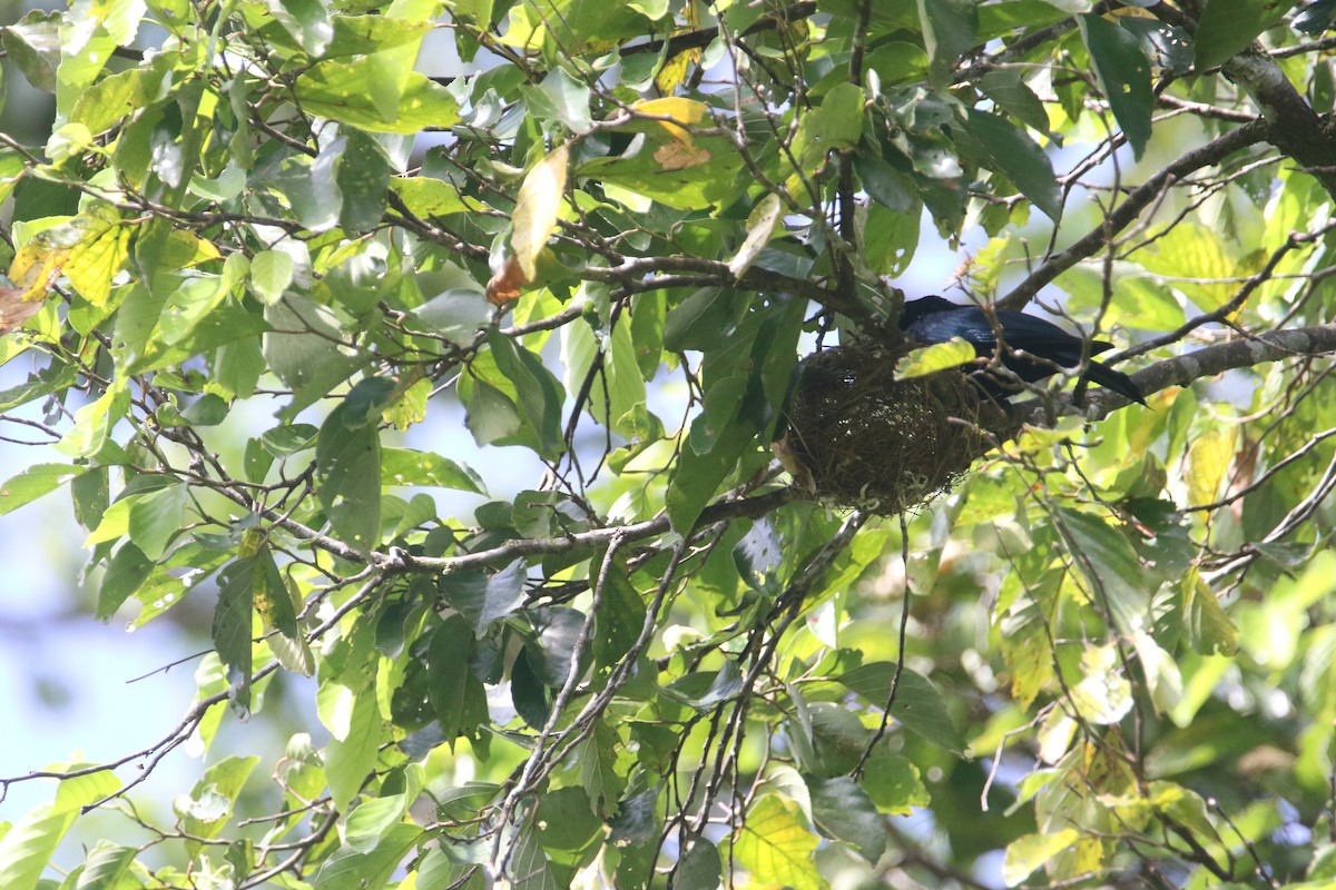
[(959, 371), (895, 379), (900, 350), (864, 343), (808, 356), (780, 460), (812, 495), (896, 514), (949, 491), (1009, 424)]

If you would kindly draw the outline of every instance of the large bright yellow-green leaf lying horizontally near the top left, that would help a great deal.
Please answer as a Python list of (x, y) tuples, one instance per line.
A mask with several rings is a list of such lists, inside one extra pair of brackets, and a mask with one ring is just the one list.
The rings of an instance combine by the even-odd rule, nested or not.
[(369, 132), (411, 135), (460, 121), (445, 87), (381, 55), (319, 61), (297, 77), (294, 92), (306, 113)]

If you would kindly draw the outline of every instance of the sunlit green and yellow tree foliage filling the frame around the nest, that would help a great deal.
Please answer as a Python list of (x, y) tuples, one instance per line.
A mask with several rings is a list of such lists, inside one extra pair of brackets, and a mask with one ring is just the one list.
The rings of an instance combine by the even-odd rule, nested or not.
[[(56, 119), (0, 148), (0, 359), (33, 363), (0, 410), (60, 458), (0, 511), (68, 488), (103, 619), (216, 604), (158, 743), (0, 779), (59, 779), (0, 822), (0, 883), (942, 886), (1003, 849), (1011, 883), (1331, 879), (1336, 88), (1301, 36), (1331, 4), (1291, 5), (7, 27)], [(1042, 392), (912, 523), (798, 500), (799, 343), (894, 319), (923, 219), (981, 244), (975, 296), (1054, 284), (1140, 340), (1152, 407)], [(399, 435), (458, 408), (481, 471)], [(509, 495), (502, 448), (541, 479)], [(273, 782), (220, 757), (174, 817), (131, 805), (285, 674), (322, 729)], [(127, 838), (52, 877), (96, 807)]]

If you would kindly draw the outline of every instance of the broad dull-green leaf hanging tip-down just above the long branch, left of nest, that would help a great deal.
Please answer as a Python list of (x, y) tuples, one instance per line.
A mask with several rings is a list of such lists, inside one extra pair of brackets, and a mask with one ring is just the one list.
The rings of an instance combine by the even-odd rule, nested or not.
[(321, 424), (315, 491), (345, 543), (369, 552), (381, 539), (381, 435), (375, 423), (350, 427), (347, 403)]

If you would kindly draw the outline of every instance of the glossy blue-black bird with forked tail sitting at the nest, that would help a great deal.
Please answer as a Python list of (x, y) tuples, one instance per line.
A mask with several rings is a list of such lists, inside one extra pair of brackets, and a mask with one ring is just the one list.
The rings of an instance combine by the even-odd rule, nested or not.
[[(945, 343), (953, 336), (962, 338), (974, 347), (974, 354), (981, 359), (993, 359), (997, 355), (998, 332), (1001, 331), (1005, 347), (1001, 362), (1003, 367), (1026, 383), (1042, 380), (1057, 374), (1061, 368), (1081, 364), (1083, 346), (1081, 338), (1033, 315), (1010, 310), (985, 312), (977, 306), (957, 306), (941, 296), (907, 300), (904, 311), (900, 314), (900, 330), (923, 346)], [(1090, 342), (1090, 355), (1098, 355), (1112, 348), (1112, 343)], [(1083, 376), (1133, 402), (1146, 403), (1132, 378), (1094, 359), (1088, 362)], [(1018, 384), (1001, 375), (978, 371), (973, 378), (985, 392), (994, 398), (1005, 398), (1021, 391)]]

